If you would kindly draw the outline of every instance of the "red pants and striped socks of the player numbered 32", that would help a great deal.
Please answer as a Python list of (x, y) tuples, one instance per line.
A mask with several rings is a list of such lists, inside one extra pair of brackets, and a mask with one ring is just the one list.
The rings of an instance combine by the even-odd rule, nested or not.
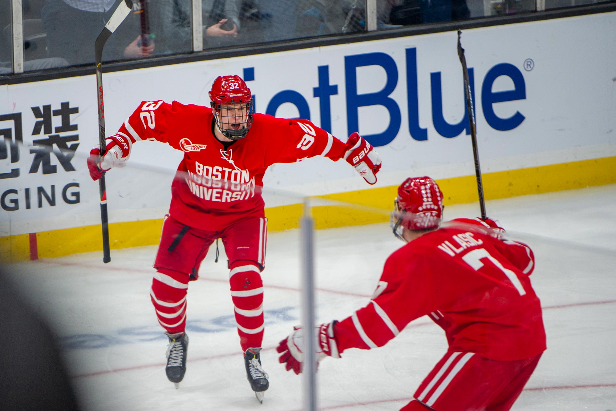
[(263, 284), (267, 218), (246, 218), (222, 231), (203, 231), (165, 218), (154, 267), (150, 297), (158, 322), (167, 333), (186, 326), (188, 281), (197, 279), (201, 261), (216, 238), (229, 258), (229, 284), (242, 351), (263, 340)]

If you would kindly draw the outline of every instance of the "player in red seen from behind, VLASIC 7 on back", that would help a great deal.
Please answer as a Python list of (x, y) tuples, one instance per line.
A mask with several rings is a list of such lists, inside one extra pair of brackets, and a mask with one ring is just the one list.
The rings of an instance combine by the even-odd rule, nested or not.
[[(392, 213), (407, 242), (387, 258), (367, 306), (316, 327), (317, 359), (383, 346), (416, 318), (445, 330), (449, 348), (402, 410), (511, 409), (546, 349), (533, 252), (503, 238), (489, 218), (441, 223), (442, 193), (429, 177), (408, 178)], [(304, 330), (280, 341), (280, 362), (301, 372)]]

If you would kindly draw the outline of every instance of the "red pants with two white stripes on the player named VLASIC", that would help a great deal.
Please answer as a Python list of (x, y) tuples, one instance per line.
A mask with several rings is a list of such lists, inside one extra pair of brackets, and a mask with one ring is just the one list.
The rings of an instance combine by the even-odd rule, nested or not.
[(507, 411), (537, 367), (541, 354), (495, 361), (449, 351), (400, 411)]

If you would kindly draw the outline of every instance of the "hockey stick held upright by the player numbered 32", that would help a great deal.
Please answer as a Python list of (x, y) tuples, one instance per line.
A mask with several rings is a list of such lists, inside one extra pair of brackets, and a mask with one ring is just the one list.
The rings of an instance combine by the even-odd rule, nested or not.
[[(111, 18), (100, 32), (94, 42), (94, 60), (96, 62), (96, 91), (98, 96), (99, 109), (99, 148), (100, 156), (105, 154), (105, 107), (103, 106), (103, 47), (111, 33), (124, 21), (124, 18), (131, 12), (131, 0), (124, 0), (118, 8), (113, 12)], [(109, 249), (109, 221), (107, 218), (107, 187), (105, 186), (105, 172), (99, 180), (100, 191), (100, 225), (103, 228), (103, 263), (111, 261), (111, 252)]]

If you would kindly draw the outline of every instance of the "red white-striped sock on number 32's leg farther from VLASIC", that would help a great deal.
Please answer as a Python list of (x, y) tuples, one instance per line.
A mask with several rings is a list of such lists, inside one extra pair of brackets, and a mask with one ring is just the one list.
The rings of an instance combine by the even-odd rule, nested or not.
[(150, 298), (156, 318), (169, 334), (184, 332), (186, 327), (186, 293), (188, 274), (158, 268), (152, 279)]

